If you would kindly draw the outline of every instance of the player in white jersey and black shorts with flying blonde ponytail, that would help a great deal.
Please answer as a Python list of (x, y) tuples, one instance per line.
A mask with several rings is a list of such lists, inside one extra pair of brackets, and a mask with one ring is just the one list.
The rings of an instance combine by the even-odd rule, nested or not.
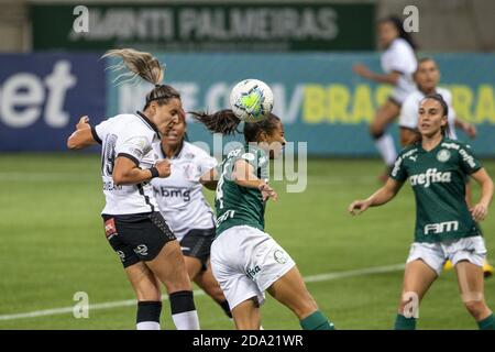
[(118, 114), (96, 127), (82, 118), (67, 145), (102, 145), (105, 232), (135, 292), (136, 328), (160, 329), (160, 279), (167, 289), (176, 328), (199, 329), (180, 245), (158, 212), (150, 184), (153, 178), (170, 174), (169, 162), (157, 162), (152, 145), (178, 122), (180, 96), (173, 87), (161, 84), (163, 68), (151, 54), (127, 48), (103, 55), (111, 56), (122, 58), (120, 68), (127, 66), (133, 77), (142, 77), (155, 87), (147, 94), (142, 112)]

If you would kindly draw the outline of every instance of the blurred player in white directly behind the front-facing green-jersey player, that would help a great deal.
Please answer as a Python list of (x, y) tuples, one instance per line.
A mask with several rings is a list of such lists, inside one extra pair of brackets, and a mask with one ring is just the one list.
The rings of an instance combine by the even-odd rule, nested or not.
[[(476, 136), (476, 128), (468, 122), (458, 119), (455, 110), (452, 107), (452, 94), (446, 88), (438, 87), (440, 80), (440, 70), (437, 63), (431, 57), (424, 57), (418, 61), (418, 69), (414, 74), (417, 89), (413, 91), (404, 101), (400, 109), (399, 117), (399, 133), (400, 143), (406, 146), (417, 138), (418, 134), (418, 108), (419, 103), (426, 96), (438, 94), (446, 101), (449, 107), (449, 138), (457, 140), (458, 135), (455, 129), (461, 129), (464, 133), (474, 139)], [(468, 207), (472, 207), (472, 187), (469, 183), (470, 178), (466, 177), (466, 202)], [(452, 263), (448, 261), (446, 263), (446, 270), (452, 268)], [(485, 277), (493, 275), (494, 268), (487, 262), (483, 265), (483, 273)]]

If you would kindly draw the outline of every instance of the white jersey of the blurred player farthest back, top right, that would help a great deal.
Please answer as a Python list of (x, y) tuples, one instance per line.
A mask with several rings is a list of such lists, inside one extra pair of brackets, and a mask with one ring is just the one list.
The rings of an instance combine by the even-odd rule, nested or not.
[(417, 61), (413, 47), (402, 37), (392, 42), (391, 46), (382, 54), (382, 68), (385, 73), (399, 72), (400, 78), (392, 92), (392, 98), (403, 103), (407, 96), (416, 89), (413, 74), (417, 68)]

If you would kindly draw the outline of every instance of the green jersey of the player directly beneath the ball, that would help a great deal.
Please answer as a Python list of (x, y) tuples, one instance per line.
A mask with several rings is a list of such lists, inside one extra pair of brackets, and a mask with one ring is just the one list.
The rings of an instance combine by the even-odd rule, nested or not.
[(217, 237), (235, 226), (250, 226), (264, 231), (265, 201), (256, 188), (241, 187), (232, 179), (234, 164), (244, 160), (254, 167), (260, 179), (267, 180), (268, 157), (253, 145), (231, 151), (219, 166), (220, 179), (217, 186), (215, 207), (217, 209)]

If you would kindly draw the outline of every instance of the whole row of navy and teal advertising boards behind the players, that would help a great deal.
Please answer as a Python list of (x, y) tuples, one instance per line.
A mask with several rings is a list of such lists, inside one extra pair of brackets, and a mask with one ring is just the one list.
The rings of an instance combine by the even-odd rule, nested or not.
[[(439, 54), (442, 86), (451, 89), (458, 116), (473, 122), (474, 150), (495, 156), (495, 54)], [(147, 84), (116, 87), (111, 63), (97, 54), (13, 54), (0, 56), (0, 151), (62, 151), (78, 118), (92, 123), (141, 109)], [(160, 54), (166, 81), (177, 87), (186, 110), (228, 107), (230, 88), (261, 78), (275, 95), (274, 112), (287, 139), (307, 142), (310, 155), (375, 156), (367, 125), (391, 88), (352, 73), (361, 62), (380, 69), (376, 54)], [(397, 128), (392, 130), (396, 136)], [(212, 144), (189, 121), (191, 141)], [(461, 134), (461, 139), (465, 135)]]

